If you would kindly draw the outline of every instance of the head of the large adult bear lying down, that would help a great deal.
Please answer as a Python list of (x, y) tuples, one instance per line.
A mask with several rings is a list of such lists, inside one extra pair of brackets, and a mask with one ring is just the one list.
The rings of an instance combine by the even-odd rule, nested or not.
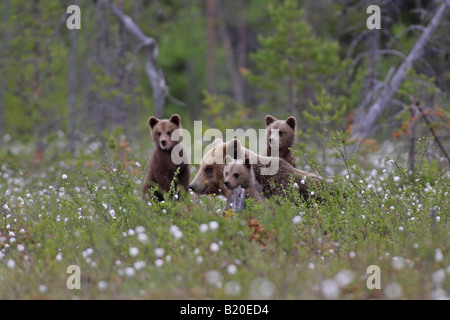
[(189, 188), (198, 194), (225, 195), (227, 188), (223, 179), (226, 155), (232, 158), (244, 158), (239, 140), (234, 139), (224, 143), (217, 138), (212, 143), (212, 148), (202, 158), (200, 167), (192, 180)]

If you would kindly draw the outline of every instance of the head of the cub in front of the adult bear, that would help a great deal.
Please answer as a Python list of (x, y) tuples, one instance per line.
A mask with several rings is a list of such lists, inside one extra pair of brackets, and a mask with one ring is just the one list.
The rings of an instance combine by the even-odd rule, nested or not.
[(227, 163), (223, 169), (224, 185), (229, 190), (234, 190), (238, 186), (248, 189), (252, 186), (253, 168), (250, 159), (246, 157), (244, 161), (234, 160), (230, 156), (226, 156)]

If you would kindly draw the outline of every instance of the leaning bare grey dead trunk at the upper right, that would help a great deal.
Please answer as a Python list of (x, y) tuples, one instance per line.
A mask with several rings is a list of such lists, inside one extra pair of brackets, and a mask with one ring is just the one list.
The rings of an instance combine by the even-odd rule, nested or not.
[(381, 116), (382, 112), (387, 108), (389, 102), (391, 101), (394, 94), (397, 92), (401, 83), (405, 79), (406, 72), (411, 68), (414, 62), (419, 59), (422, 54), (425, 45), (430, 40), (436, 28), (439, 26), (442, 17), (446, 9), (450, 7), (450, 1), (444, 0), (444, 2), (439, 6), (439, 8), (434, 13), (430, 23), (424, 29), (424, 32), (414, 44), (413, 48), (406, 56), (403, 63), (396, 70), (390, 81), (384, 85), (383, 89), (380, 91), (375, 102), (365, 110), (364, 106), (358, 108), (357, 116), (355, 118), (355, 123), (353, 125), (353, 133), (351, 138), (356, 141), (365, 140), (375, 128), (375, 123)]

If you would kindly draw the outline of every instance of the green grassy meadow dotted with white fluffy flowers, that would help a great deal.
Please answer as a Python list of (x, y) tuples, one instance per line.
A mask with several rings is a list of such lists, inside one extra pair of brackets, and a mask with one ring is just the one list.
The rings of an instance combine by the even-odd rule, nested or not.
[[(33, 174), (30, 160), (2, 156), (0, 299), (450, 296), (448, 171), (410, 180), (393, 161), (349, 167), (348, 179), (334, 177), (345, 196), (307, 204), (293, 191), (230, 219), (219, 197), (143, 202), (146, 168), (133, 161), (147, 155), (121, 152), (61, 155)], [(81, 289), (67, 287), (70, 265)], [(366, 286), (370, 265), (379, 290)]]

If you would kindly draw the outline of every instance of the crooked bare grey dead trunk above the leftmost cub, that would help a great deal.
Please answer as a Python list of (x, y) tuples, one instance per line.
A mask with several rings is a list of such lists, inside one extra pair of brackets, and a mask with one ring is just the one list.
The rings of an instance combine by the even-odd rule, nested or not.
[(145, 71), (149, 78), (150, 84), (153, 89), (153, 100), (155, 104), (155, 116), (157, 118), (163, 117), (164, 105), (166, 99), (169, 97), (169, 88), (166, 85), (164, 73), (156, 63), (158, 57), (158, 44), (155, 39), (146, 36), (139, 26), (129, 16), (124, 14), (119, 8), (117, 8), (112, 1), (109, 1), (112, 12), (117, 19), (123, 24), (138, 41), (140, 41), (138, 49), (147, 49), (147, 65)]

